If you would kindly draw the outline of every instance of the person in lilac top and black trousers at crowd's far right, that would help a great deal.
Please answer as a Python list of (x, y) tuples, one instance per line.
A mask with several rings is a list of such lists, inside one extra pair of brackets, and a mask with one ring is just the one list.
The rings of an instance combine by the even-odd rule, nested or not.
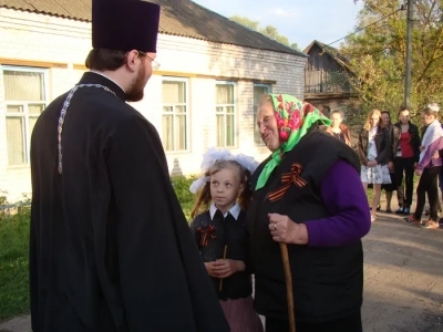
[[(420, 159), (415, 168), (415, 174), (421, 176), (419, 186), (416, 187), (416, 206), (414, 214), (404, 218), (410, 225), (422, 228), (439, 228), (439, 188), (437, 178), (442, 170), (442, 158), (439, 151), (443, 148), (443, 128), (439, 122), (440, 108), (435, 105), (427, 105), (421, 114), (423, 125), (426, 131), (423, 135), (420, 146)], [(426, 221), (421, 221), (422, 212), (425, 204), (425, 195), (430, 204), (430, 217)]]

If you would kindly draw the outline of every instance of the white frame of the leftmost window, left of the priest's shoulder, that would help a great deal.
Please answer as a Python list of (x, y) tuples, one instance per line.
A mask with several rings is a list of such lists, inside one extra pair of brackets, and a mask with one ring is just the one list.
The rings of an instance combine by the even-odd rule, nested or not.
[[(7, 151), (7, 165), (8, 168), (16, 168), (16, 167), (29, 167), (30, 165), (30, 151), (31, 151), (31, 135), (32, 132), (30, 131), (30, 118), (35, 118), (35, 121), (40, 117), (40, 114), (32, 114), (29, 112), (29, 105), (30, 104), (41, 104), (43, 105), (42, 112), (47, 108), (47, 106), (50, 104), (49, 101), (49, 69), (47, 68), (32, 68), (32, 66), (20, 66), (20, 65), (0, 65), (0, 71), (1, 71), (1, 79), (2, 79), (2, 86), (3, 86), (3, 105), (4, 105), (4, 129), (6, 133), (8, 131), (7, 128), (7, 123), (8, 123), (8, 117), (22, 117), (24, 118), (24, 135), (23, 138), (23, 145), (24, 145), (24, 162), (21, 164), (11, 164), (9, 160), (9, 144), (8, 144), (8, 134), (6, 134), (6, 151)], [(4, 72), (24, 72), (24, 73), (40, 73), (43, 76), (43, 101), (8, 101), (6, 98), (6, 82), (4, 82)], [(11, 113), (8, 112), (8, 106), (22, 106), (23, 107), (23, 113)]]

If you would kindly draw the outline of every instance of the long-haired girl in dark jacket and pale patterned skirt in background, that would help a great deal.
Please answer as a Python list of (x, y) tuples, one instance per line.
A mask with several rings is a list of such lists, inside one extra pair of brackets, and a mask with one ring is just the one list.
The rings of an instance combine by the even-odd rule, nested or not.
[(371, 221), (377, 219), (381, 185), (390, 184), (388, 162), (391, 154), (391, 141), (387, 128), (382, 127), (381, 113), (372, 110), (359, 134), (358, 154), (361, 163), (361, 181), (364, 190), (368, 184), (373, 186)]

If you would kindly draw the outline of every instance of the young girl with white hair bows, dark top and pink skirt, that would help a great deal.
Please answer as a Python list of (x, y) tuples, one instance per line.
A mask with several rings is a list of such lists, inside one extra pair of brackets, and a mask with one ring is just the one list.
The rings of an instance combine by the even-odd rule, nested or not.
[(224, 152), (218, 156), (217, 152), (207, 154), (206, 164), (209, 167), (205, 176), (190, 188), (195, 193), (203, 185), (190, 215), (190, 228), (230, 331), (261, 332), (253, 308), (245, 226), (245, 209), (251, 198), (249, 177), (257, 165)]

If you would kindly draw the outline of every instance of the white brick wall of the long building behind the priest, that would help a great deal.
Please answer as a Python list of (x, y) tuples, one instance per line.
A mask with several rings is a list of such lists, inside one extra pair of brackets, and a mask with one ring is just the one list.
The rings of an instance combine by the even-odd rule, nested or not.
[[(79, 81), (83, 72), (79, 68), (84, 64), (90, 49), (91, 24), (87, 22), (0, 8), (0, 61), (17, 61), (22, 65), (29, 61), (28, 65), (40, 66), (41, 63), (55, 63), (48, 69), (48, 101)], [(173, 173), (198, 173), (203, 153), (215, 145), (217, 80), (236, 82), (238, 144), (233, 152), (253, 154), (258, 160), (269, 152), (254, 144), (254, 82), (275, 82), (274, 93), (303, 97), (306, 58), (301, 56), (159, 34), (156, 61), (161, 63), (159, 72), (154, 72), (147, 83), (145, 98), (133, 105), (162, 136), (163, 75), (187, 80), (189, 149), (166, 154)], [(58, 64), (65, 68), (56, 68)], [(8, 199), (13, 201), (31, 191), (30, 169), (29, 165), (8, 166), (3, 94), (0, 71), (0, 190), (8, 190)]]

